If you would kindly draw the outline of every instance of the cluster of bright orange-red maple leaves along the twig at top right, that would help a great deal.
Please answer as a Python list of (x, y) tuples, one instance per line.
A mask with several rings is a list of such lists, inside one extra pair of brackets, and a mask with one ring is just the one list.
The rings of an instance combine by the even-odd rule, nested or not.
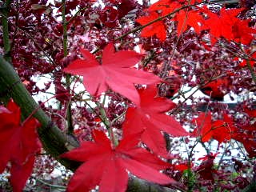
[[(193, 5), (190, 2), (190, 5)], [(194, 28), (196, 33), (202, 30), (209, 30), (211, 42), (214, 44), (217, 38), (226, 38), (229, 41), (239, 42), (249, 45), (253, 40), (256, 30), (249, 27), (250, 20), (241, 20), (237, 18), (242, 9), (222, 8), (219, 13), (211, 12), (206, 6), (194, 6), (194, 9), (182, 9), (182, 2), (172, 0), (160, 0), (146, 9), (147, 16), (142, 16), (136, 21), (141, 25), (146, 25), (162, 16), (174, 15), (171, 21), (178, 22), (177, 33), (182, 34), (185, 30)], [(166, 40), (166, 25), (162, 19), (146, 26), (141, 33), (142, 37), (156, 37), (160, 41)]]

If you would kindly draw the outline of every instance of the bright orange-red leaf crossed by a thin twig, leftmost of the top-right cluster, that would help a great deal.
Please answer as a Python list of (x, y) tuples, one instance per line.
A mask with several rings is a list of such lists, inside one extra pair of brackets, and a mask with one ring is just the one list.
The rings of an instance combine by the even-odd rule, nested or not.
[[(136, 19), (136, 22), (140, 23), (142, 26), (152, 22), (154, 19), (159, 18), (159, 15), (155, 12), (149, 12), (148, 16), (142, 16)], [(156, 35), (156, 37), (164, 42), (166, 40), (166, 26), (164, 22), (158, 21), (146, 26), (142, 29), (141, 37), (149, 38)]]

